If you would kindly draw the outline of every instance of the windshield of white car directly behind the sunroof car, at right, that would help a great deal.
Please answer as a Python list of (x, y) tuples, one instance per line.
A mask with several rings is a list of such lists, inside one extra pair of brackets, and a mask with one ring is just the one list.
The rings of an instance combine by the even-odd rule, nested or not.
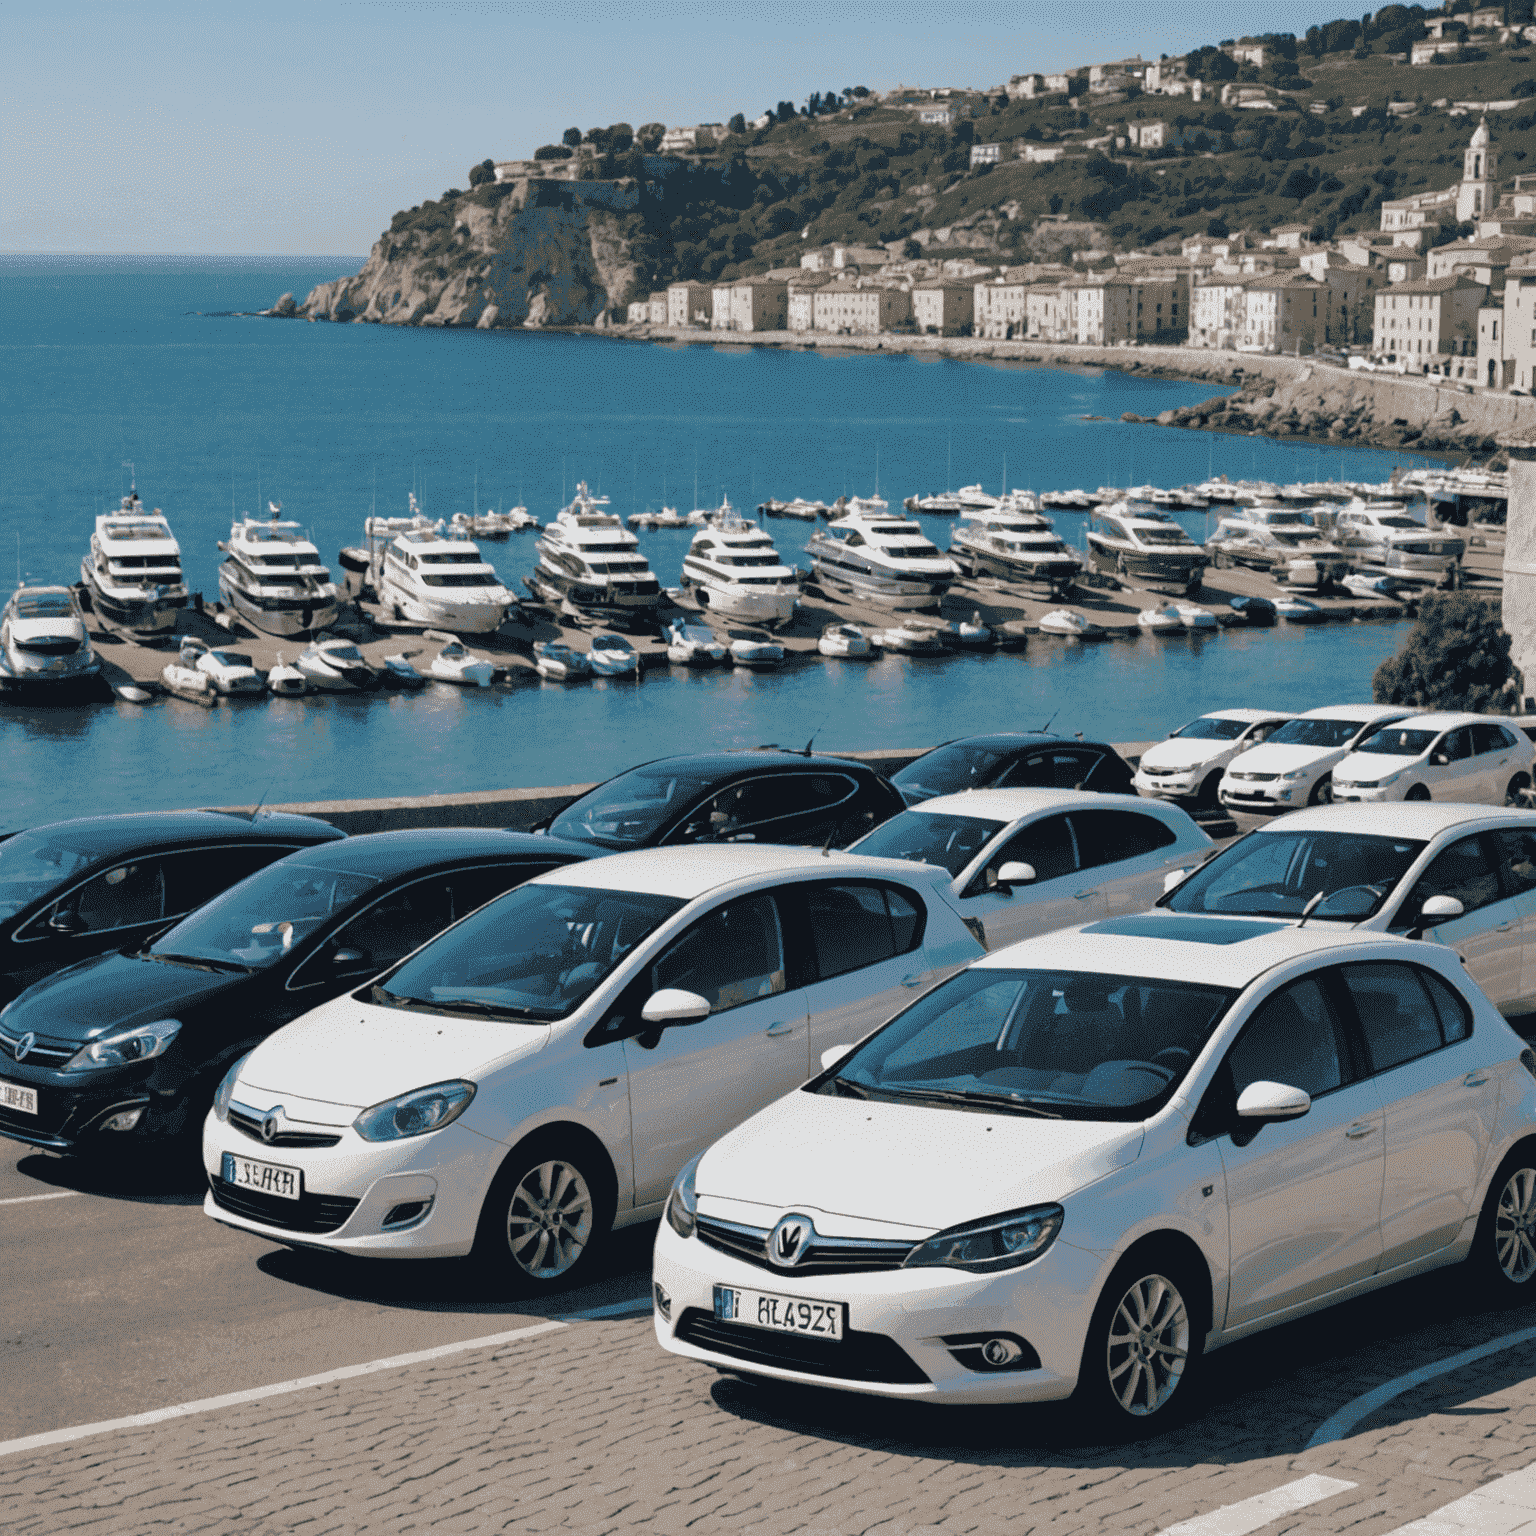
[(1422, 852), (1412, 837), (1366, 833), (1253, 833), (1197, 869), (1163, 905), (1175, 912), (1313, 917), (1359, 922), (1381, 911)]

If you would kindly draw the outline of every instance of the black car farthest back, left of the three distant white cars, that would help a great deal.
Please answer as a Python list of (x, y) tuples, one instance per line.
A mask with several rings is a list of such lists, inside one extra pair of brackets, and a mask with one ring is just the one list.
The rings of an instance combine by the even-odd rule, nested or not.
[(963, 736), (914, 757), (891, 783), (906, 805), (963, 790), (1095, 790), (1135, 794), (1130, 765), (1107, 742), (1080, 742), (1044, 731)]

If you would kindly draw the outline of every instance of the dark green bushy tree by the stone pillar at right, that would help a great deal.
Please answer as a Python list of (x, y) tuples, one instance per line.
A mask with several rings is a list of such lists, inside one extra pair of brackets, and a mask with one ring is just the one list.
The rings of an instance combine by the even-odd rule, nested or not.
[(1372, 691), (1378, 703), (1421, 710), (1498, 708), (1519, 693), (1498, 610), (1471, 593), (1432, 593), (1402, 648), (1376, 668)]

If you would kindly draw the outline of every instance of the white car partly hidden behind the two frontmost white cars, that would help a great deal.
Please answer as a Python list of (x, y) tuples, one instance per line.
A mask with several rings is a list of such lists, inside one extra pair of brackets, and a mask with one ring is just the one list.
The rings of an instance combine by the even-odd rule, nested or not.
[(1215, 843), (1177, 805), (1083, 790), (968, 790), (909, 806), (849, 852), (943, 866), (966, 926), (1003, 945), (1144, 912)]

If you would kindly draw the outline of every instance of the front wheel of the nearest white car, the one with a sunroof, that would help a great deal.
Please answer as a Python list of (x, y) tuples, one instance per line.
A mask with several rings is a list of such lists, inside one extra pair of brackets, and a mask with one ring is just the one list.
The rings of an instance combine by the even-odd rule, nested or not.
[(1087, 1326), (1072, 1410), (1112, 1439), (1161, 1433), (1195, 1396), (1206, 1326), (1192, 1266), (1147, 1244), (1115, 1266)]

